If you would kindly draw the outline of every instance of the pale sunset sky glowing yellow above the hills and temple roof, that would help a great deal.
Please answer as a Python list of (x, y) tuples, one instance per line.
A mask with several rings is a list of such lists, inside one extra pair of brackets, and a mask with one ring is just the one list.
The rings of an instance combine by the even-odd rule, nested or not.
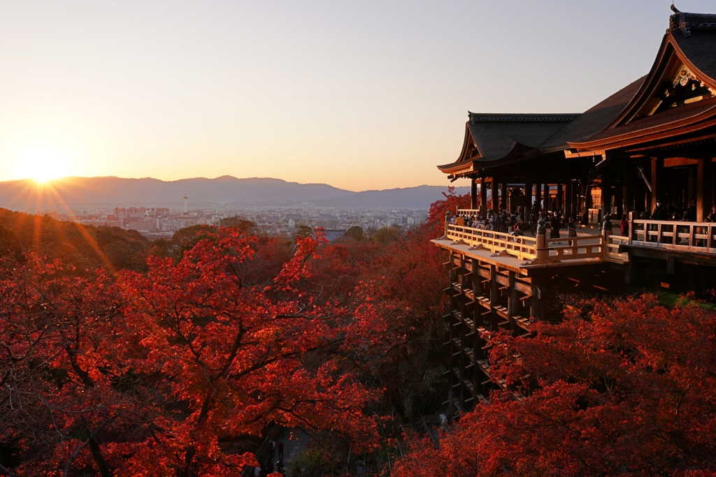
[(589, 109), (649, 72), (670, 4), (0, 1), (0, 180), (446, 185), (468, 110)]

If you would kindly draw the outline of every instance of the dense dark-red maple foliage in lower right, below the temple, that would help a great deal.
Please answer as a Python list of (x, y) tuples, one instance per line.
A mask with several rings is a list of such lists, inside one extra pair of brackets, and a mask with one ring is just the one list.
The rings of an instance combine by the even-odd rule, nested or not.
[[(716, 471), (716, 314), (654, 297), (594, 309), (533, 339), (495, 338), (495, 392), (397, 476), (707, 475)], [(519, 391), (523, 396), (514, 398)]]

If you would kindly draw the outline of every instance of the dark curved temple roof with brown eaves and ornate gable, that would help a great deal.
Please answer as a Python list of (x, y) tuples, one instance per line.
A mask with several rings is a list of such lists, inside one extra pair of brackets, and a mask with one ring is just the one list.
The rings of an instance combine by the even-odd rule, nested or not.
[[(465, 175), (548, 152), (604, 151), (657, 132), (679, 134), (693, 124), (716, 124), (716, 14), (672, 9), (669, 29), (649, 74), (582, 114), (469, 112), (460, 157), (438, 168)], [(691, 81), (688, 86), (698, 95), (660, 107), (664, 101), (673, 101), (669, 92), (664, 99), (664, 85), (673, 82), (678, 89), (679, 79), (682, 84)]]

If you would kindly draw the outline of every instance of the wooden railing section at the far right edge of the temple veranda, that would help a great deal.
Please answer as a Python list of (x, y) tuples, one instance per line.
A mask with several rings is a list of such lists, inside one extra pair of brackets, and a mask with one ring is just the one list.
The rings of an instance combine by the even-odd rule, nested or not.
[(630, 225), (630, 245), (716, 253), (716, 223), (635, 219)]

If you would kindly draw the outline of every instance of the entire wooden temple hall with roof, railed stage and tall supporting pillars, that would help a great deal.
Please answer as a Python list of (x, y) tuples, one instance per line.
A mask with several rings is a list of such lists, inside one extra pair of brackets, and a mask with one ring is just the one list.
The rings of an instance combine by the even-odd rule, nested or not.
[[(449, 252), (445, 323), (450, 405), (465, 408), (493, 383), (485, 331), (531, 333), (556, 313), (557, 287), (619, 291), (656, 282), (716, 287), (716, 14), (678, 11), (669, 19), (651, 71), (581, 114), (470, 112), (457, 161), (438, 166), (468, 178), (469, 210), (558, 211), (594, 227), (548, 239), (453, 225), (433, 240)], [(490, 200), (488, 200), (488, 190)], [(649, 220), (657, 201), (688, 220)], [(629, 235), (614, 222), (629, 216)], [(606, 230), (600, 230), (604, 228)], [(587, 229), (583, 229), (587, 230)]]

